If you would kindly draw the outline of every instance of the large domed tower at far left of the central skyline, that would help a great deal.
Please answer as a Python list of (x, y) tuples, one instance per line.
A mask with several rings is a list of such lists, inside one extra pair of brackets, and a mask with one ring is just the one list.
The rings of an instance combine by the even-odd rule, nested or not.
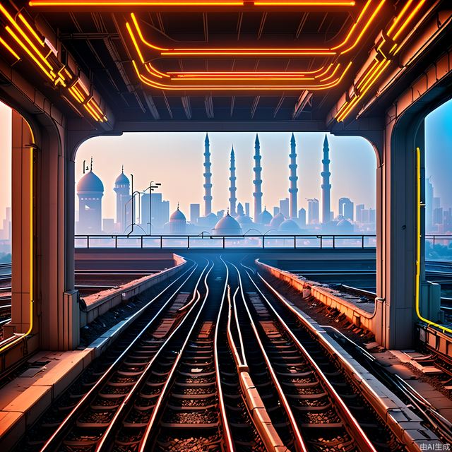
[(100, 234), (102, 232), (102, 196), (104, 184), (93, 173), (93, 159), (90, 171), (77, 184), (78, 234)]

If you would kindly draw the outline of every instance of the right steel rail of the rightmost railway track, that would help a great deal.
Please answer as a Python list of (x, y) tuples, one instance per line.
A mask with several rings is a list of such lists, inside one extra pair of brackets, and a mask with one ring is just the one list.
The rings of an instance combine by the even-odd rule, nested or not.
[[(311, 365), (312, 369), (316, 372), (317, 376), (319, 376), (319, 379), (323, 383), (324, 388), (328, 391), (331, 398), (335, 401), (337, 404), (338, 411), (340, 412), (340, 415), (343, 419), (345, 428), (349, 430), (350, 436), (352, 436), (355, 441), (357, 441), (357, 444), (359, 445), (360, 449), (362, 451), (369, 451), (369, 452), (376, 452), (376, 448), (374, 448), (374, 445), (371, 444), (371, 441), (367, 437), (367, 434), (364, 433), (362, 430), (362, 427), (359, 425), (355, 417), (352, 415), (350, 410), (345, 405), (343, 399), (339, 396), (335, 388), (333, 388), (332, 384), (328, 379), (326, 378), (326, 375), (323, 374), (323, 371), (320, 369), (319, 365), (315, 362), (315, 360), (311, 357), (309, 352), (306, 350), (306, 348), (302, 345), (302, 343), (299, 342), (297, 336), (292, 332), (292, 330), (287, 326), (287, 323), (281, 318), (281, 316), (278, 314), (278, 312), (274, 309), (272, 304), (268, 301), (268, 298), (263, 294), (263, 292), (259, 289), (259, 287), (254, 282), (253, 278), (251, 278), (251, 275), (246, 271), (246, 275), (248, 275), (249, 280), (256, 288), (256, 291), (259, 295), (261, 295), (261, 299), (265, 302), (266, 306), (268, 307), (269, 311), (272, 313), (272, 315), (275, 317), (275, 319), (278, 320), (280, 326), (283, 327), (283, 330), (290, 336), (293, 343), (297, 346), (298, 350), (302, 352), (302, 355), (304, 355), (305, 359), (307, 359), (307, 362)], [(348, 427), (348, 428), (347, 428)]]

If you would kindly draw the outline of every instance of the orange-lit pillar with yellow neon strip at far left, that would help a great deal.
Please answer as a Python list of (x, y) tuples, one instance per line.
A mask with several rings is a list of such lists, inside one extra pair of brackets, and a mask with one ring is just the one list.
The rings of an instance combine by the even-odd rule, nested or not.
[[(33, 180), (34, 139), (28, 123), (12, 110), (12, 297), (11, 323), (4, 326), (4, 335), (30, 333), (37, 330), (36, 309), (33, 307)], [(32, 318), (33, 317), (33, 318)]]

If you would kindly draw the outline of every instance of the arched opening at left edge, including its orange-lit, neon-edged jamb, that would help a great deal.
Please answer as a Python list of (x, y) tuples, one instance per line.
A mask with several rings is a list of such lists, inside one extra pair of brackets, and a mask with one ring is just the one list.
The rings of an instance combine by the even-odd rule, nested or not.
[[(0, 353), (37, 331), (35, 287), (35, 138), (28, 122), (0, 104), (1, 304), (4, 307)], [(9, 283), (9, 287), (8, 287)], [(8, 303), (9, 302), (9, 303)], [(11, 309), (8, 310), (8, 306)], [(8, 364), (2, 359), (2, 364)]]

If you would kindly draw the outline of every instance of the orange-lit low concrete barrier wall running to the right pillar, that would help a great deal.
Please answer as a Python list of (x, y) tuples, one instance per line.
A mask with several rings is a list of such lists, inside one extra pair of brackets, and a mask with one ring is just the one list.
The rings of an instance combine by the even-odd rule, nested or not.
[(347, 319), (356, 326), (359, 326), (359, 328), (365, 328), (374, 333), (377, 342), (379, 342), (378, 338), (381, 334), (381, 320), (379, 319), (381, 313), (381, 303), (379, 303), (378, 299), (376, 300), (374, 312), (369, 313), (357, 307), (355, 304), (334, 295), (331, 289), (321, 287), (319, 283), (309, 280), (300, 280), (297, 278), (297, 275), (294, 275), (288, 271), (280, 270), (279, 268), (273, 266), (269, 266), (266, 263), (260, 262), (258, 259), (256, 259), (255, 262), (261, 270), (290, 284), (296, 290), (301, 292), (303, 297), (312, 295), (315, 299), (319, 300), (319, 302), (335, 308), (345, 314)]

